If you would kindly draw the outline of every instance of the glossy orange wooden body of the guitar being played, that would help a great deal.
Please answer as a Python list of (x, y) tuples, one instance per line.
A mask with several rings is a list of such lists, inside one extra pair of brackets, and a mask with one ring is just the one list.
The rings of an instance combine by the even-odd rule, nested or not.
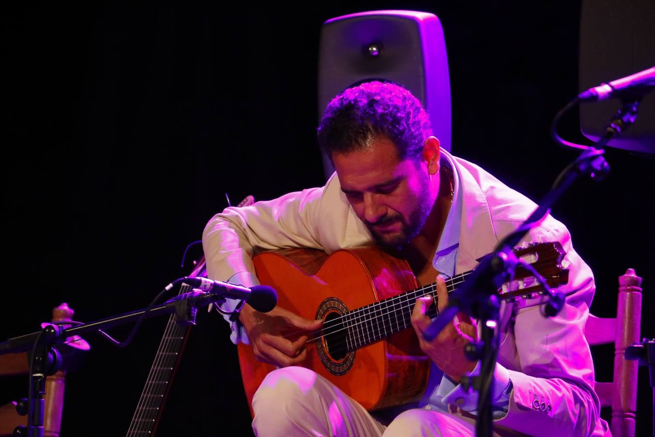
[[(326, 320), (324, 326), (335, 316), (417, 288), (406, 261), (375, 247), (330, 256), (307, 249), (263, 252), (253, 263), (261, 284), (278, 292), (278, 306)], [(345, 344), (334, 336), (338, 332), (333, 337), (317, 333), (318, 339), (307, 343), (307, 359), (301, 365), (326, 377), (364, 408), (403, 404), (423, 394), (430, 365), (411, 327), (352, 351), (335, 346)], [(255, 360), (250, 345), (239, 343), (238, 356), (252, 405), (253, 394), (274, 366)]]

